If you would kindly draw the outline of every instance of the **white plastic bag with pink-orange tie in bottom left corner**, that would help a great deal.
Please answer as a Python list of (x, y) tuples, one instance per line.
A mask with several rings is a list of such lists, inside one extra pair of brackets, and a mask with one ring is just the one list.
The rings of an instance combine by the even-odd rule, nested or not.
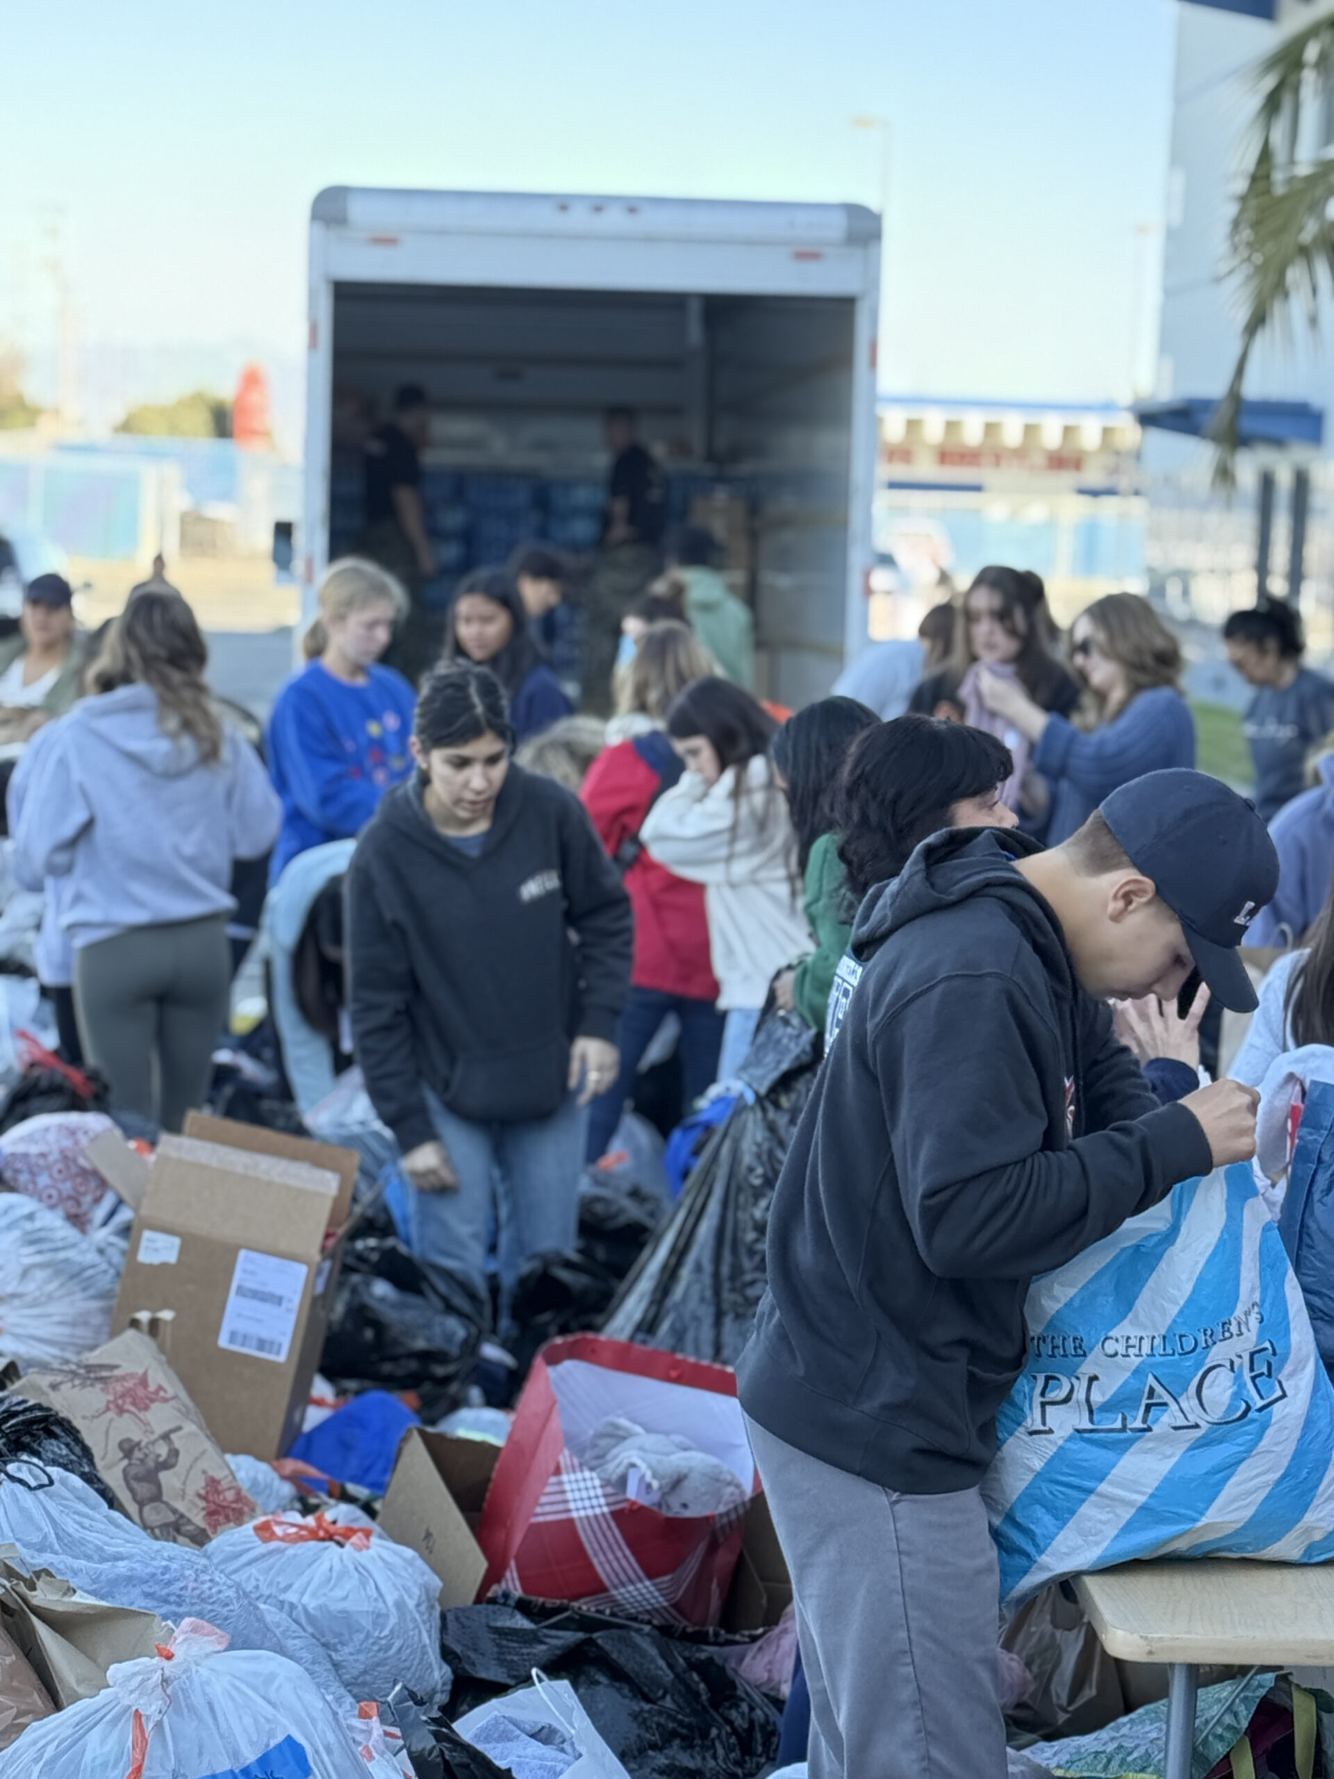
[(0, 1779), (398, 1779), (293, 1662), (228, 1649), (185, 1619), (171, 1653), (117, 1662), (107, 1688), (32, 1724), (0, 1754)]

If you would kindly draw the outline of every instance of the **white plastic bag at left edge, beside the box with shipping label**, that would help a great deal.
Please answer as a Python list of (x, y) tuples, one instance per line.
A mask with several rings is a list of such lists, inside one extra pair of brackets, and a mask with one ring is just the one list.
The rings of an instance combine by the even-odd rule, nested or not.
[(110, 1338), (119, 1272), (59, 1211), (0, 1192), (0, 1354), (82, 1359)]

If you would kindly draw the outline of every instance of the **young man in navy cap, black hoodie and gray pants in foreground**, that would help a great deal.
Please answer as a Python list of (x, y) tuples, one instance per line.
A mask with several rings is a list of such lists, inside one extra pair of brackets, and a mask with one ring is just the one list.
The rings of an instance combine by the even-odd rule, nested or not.
[(1277, 884), (1256, 811), (1151, 772), (1062, 847), (925, 840), (872, 890), (864, 970), (774, 1192), (740, 1400), (795, 1589), (811, 1779), (1003, 1779), (998, 1569), (978, 1484), (1033, 1276), (1254, 1153), (1256, 1094), (1160, 1105), (1106, 1002), (1238, 945)]

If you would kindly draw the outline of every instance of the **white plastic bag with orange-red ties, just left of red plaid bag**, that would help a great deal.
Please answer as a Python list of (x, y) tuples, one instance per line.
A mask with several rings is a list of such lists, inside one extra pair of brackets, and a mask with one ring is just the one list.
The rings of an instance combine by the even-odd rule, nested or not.
[(436, 1704), (450, 1685), (439, 1578), (388, 1533), (338, 1517), (269, 1514), (221, 1533), (205, 1555), (317, 1637), (356, 1699), (386, 1701), (402, 1681)]

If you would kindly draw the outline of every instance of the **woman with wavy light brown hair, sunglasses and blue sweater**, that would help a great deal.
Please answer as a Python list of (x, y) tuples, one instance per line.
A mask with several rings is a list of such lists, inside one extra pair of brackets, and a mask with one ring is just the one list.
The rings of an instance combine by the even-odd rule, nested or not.
[(1195, 765), (1195, 722), (1181, 696), (1181, 646), (1147, 600), (1110, 592), (1080, 612), (1071, 655), (1096, 706), (1089, 731), (1044, 710), (1014, 680), (984, 671), (982, 703), (1032, 745), (1051, 792), (1049, 847), (1083, 827), (1121, 785)]

